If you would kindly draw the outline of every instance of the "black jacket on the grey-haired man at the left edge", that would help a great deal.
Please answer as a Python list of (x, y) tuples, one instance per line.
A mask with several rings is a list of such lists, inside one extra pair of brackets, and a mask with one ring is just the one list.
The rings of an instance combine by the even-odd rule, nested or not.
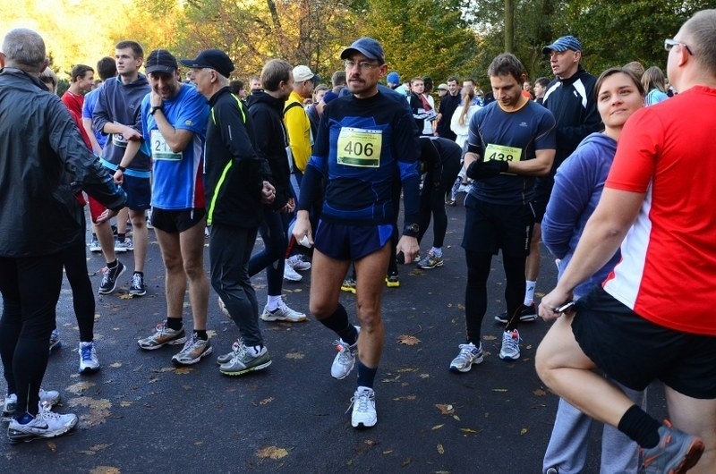
[(0, 70), (0, 257), (49, 255), (84, 241), (80, 189), (105, 207), (124, 207), (124, 190), (60, 97), (26, 72)]

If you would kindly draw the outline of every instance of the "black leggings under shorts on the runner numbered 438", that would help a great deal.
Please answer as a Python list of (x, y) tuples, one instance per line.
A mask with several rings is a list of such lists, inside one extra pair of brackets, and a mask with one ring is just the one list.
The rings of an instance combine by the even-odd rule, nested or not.
[[(465, 286), (467, 342), (479, 345), (482, 319), (487, 312), (487, 279), (490, 276), (492, 254), (465, 250), (465, 259), (467, 260), (467, 285)], [(524, 300), (524, 261), (524, 257), (508, 257), (504, 254), (502, 256), (502, 265), (507, 277), (505, 301), (509, 317), (505, 330), (515, 329), (520, 321), (519, 313)]]

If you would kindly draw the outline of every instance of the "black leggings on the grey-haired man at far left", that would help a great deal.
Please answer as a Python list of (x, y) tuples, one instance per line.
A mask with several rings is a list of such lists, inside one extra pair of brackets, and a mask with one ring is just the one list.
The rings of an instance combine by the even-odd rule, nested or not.
[(62, 287), (63, 253), (0, 258), (0, 356), (7, 393), (17, 394), (16, 417), (37, 415), (50, 334)]

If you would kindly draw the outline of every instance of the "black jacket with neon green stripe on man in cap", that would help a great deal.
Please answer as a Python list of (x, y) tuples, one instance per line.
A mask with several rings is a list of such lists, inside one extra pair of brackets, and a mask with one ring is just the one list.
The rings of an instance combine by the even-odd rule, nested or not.
[(226, 87), (209, 99), (211, 113), (204, 153), (204, 190), (208, 224), (258, 227), (266, 160), (256, 153), (251, 115)]

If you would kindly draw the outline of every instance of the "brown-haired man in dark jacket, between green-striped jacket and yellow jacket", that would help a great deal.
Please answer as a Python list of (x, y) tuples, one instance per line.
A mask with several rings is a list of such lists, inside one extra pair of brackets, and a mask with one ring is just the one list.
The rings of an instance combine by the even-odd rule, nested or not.
[(264, 248), (249, 260), (249, 275), (266, 268), (268, 300), (261, 313), (264, 321), (306, 320), (306, 315), (290, 309), (281, 290), (284, 282), (286, 247), (288, 247), (288, 217), (294, 212), (295, 201), (291, 190), (291, 157), (288, 133), (284, 125), (284, 104), (291, 95), (294, 83), (293, 67), (282, 59), (272, 59), (263, 66), (263, 90), (252, 94), (249, 114), (256, 131), (256, 152), (266, 158), (271, 168), (276, 199), (263, 209), (263, 222), (259, 226)]

